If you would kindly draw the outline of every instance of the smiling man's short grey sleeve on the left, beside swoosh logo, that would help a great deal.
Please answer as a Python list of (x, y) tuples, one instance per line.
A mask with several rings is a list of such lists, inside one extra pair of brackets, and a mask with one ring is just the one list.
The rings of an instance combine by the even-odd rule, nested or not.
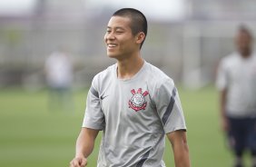
[(104, 114), (99, 99), (99, 93), (94, 87), (95, 86), (93, 81), (87, 95), (83, 127), (95, 130), (103, 130)]

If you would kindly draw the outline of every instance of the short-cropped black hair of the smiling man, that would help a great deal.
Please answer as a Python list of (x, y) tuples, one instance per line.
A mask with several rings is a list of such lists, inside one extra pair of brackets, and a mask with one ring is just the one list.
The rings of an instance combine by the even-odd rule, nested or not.
[[(131, 19), (131, 29), (133, 35), (143, 32), (146, 37), (148, 31), (148, 24), (145, 15), (143, 15), (141, 11), (133, 8), (122, 8), (113, 13), (113, 16), (129, 17)], [(142, 46), (143, 43), (141, 44), (141, 48)]]

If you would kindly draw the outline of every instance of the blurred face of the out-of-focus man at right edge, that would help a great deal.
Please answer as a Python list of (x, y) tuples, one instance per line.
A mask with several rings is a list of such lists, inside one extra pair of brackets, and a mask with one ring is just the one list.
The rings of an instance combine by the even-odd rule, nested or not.
[(251, 52), (251, 36), (247, 33), (240, 32), (236, 36), (236, 45), (238, 51), (242, 55), (250, 54)]

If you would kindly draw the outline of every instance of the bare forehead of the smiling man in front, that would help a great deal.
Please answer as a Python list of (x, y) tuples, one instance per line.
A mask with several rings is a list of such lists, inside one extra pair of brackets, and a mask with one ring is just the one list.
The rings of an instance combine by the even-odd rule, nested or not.
[(108, 22), (108, 28), (123, 28), (129, 29), (131, 24), (131, 19), (129, 17), (123, 16), (112, 16)]

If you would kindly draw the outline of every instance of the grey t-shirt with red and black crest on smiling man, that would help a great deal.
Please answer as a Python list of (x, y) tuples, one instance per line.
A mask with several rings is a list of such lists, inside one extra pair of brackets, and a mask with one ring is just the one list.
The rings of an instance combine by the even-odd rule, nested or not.
[(164, 134), (186, 130), (182, 105), (170, 77), (144, 62), (129, 80), (117, 64), (95, 75), (83, 127), (103, 130), (98, 167), (164, 167)]

